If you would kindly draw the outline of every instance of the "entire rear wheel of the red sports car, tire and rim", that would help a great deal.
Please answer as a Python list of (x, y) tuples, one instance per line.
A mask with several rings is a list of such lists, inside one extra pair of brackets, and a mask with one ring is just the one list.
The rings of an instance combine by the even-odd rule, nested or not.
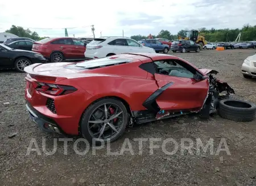
[[(117, 118), (117, 120), (115, 120), (114, 118), (111, 121), (108, 121), (108, 119), (111, 119), (112, 117), (114, 117), (114, 115), (117, 115), (117, 113), (111, 114), (110, 106), (114, 106), (115, 108), (117, 108), (115, 110), (117, 111), (117, 113), (121, 113), (118, 115), (119, 117), (122, 117), (121, 119), (117, 116), (115, 117)], [(118, 123), (114, 123), (114, 121)], [(115, 98), (104, 98), (102, 100), (94, 102), (84, 111), (84, 114), (82, 114), (81, 117), (80, 131), (82, 137), (87, 139), (89, 143), (92, 143), (93, 140), (95, 140), (96, 144), (100, 144), (101, 142), (106, 143), (107, 140), (113, 142), (114, 140), (117, 140), (123, 135), (127, 126), (127, 121), (128, 113), (125, 105), (123, 105), (121, 101)], [(109, 123), (111, 123), (111, 126)], [(118, 127), (117, 125), (120, 126)], [(113, 129), (113, 127), (116, 131)], [(102, 129), (103, 133), (101, 134)], [(94, 131), (96, 131), (96, 133), (98, 134), (93, 135)], [(111, 135), (113, 134), (113, 136), (108, 138), (108, 135), (110, 135), (109, 133), (111, 133)]]

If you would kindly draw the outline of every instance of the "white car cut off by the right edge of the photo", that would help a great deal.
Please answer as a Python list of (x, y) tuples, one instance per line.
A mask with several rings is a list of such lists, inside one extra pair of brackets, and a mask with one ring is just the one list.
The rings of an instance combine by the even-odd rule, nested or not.
[(256, 54), (243, 61), (241, 70), (245, 78), (256, 77)]

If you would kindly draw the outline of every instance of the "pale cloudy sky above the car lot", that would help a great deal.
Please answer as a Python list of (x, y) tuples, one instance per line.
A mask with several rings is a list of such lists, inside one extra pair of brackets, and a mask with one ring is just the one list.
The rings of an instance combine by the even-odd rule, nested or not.
[(256, 24), (256, 0), (1, 0), (0, 32), (11, 25), (39, 36), (157, 35), (181, 29), (241, 28)]

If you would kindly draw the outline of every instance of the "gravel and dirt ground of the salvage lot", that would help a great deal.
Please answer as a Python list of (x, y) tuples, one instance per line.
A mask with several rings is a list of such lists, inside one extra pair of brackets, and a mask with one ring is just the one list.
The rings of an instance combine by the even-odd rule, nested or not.
[[(242, 61), (255, 53), (254, 49), (226, 51), (201, 51), (200, 53), (172, 53), (191, 61), (197, 67), (219, 71), (218, 77), (229, 83), (236, 97), (256, 103), (256, 80), (242, 77)], [(0, 185), (256, 185), (256, 121), (237, 123), (214, 115), (209, 121), (197, 115), (189, 115), (152, 122), (127, 129), (123, 138), (111, 144), (112, 152), (120, 152), (126, 138), (130, 139), (134, 155), (129, 151), (123, 155), (106, 155), (106, 147), (92, 149), (85, 155), (77, 155), (73, 143), (68, 142), (67, 155), (64, 143), (57, 141), (53, 155), (44, 153), (42, 143), (46, 140), (48, 151), (53, 150), (53, 138), (28, 117), (24, 102), (24, 74), (0, 71)], [(4, 105), (10, 102), (9, 105)], [(10, 134), (16, 136), (9, 138)], [(26, 155), (31, 138), (38, 143), (41, 155), (32, 151)], [(150, 154), (149, 142), (143, 143), (142, 155), (139, 143), (134, 138), (200, 138), (205, 144), (214, 139), (214, 155), (192, 154), (177, 151), (167, 155), (162, 148)], [(225, 138), (231, 155), (216, 149), (221, 138)], [(84, 150), (81, 144), (79, 151)], [(127, 146), (126, 146), (127, 147)], [(33, 146), (35, 148), (35, 146)], [(224, 148), (224, 146), (222, 146)], [(170, 150), (171, 151), (171, 150)], [(222, 159), (223, 158), (223, 162)]]

